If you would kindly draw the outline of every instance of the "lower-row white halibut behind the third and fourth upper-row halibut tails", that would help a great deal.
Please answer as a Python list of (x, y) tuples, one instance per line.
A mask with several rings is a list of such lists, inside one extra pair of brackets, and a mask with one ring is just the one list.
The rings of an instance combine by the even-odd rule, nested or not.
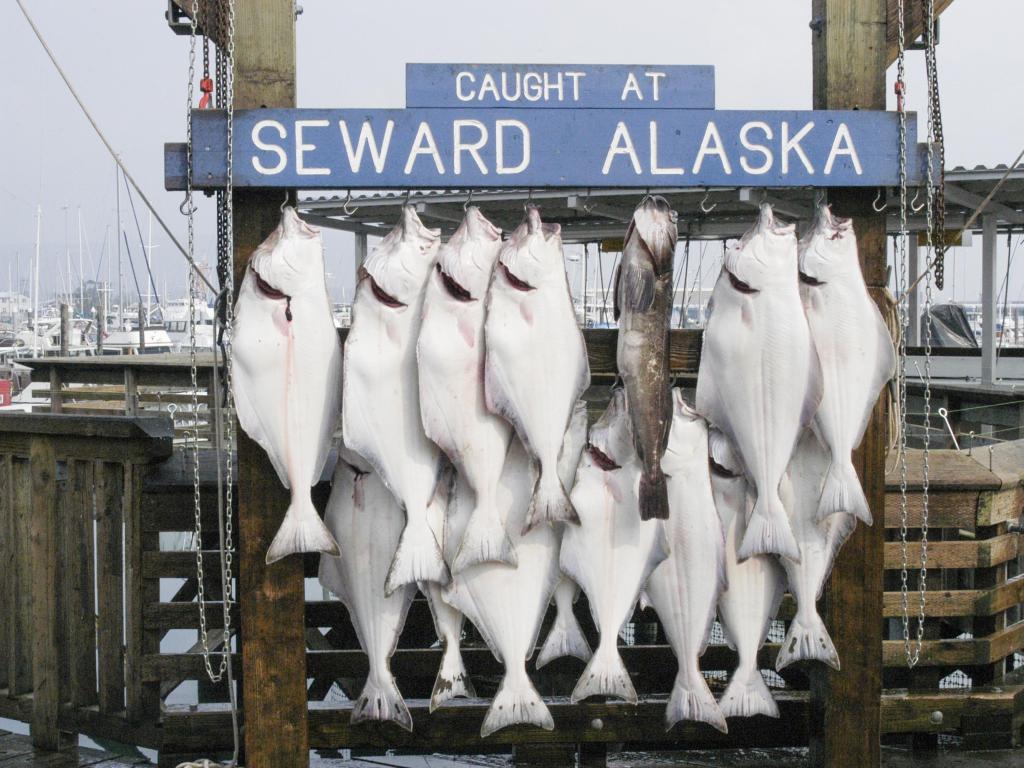
[[(559, 456), (558, 472), (563, 482), (568, 482), (575, 471), (586, 438), (586, 408), (581, 403), (573, 410)], [(554, 728), (551, 713), (526, 674), (526, 662), (537, 645), (541, 622), (560, 578), (560, 531), (555, 526), (540, 525), (520, 532), (536, 476), (529, 455), (518, 439), (513, 439), (499, 483), (498, 509), (515, 544), (518, 563), (471, 565), (454, 574), (444, 590), (444, 599), (473, 623), (495, 657), (505, 666), (505, 676), (480, 727), (481, 736), (516, 723)], [(449, 507), (446, 535), (456, 544), (472, 508), (472, 493), (460, 478)]]

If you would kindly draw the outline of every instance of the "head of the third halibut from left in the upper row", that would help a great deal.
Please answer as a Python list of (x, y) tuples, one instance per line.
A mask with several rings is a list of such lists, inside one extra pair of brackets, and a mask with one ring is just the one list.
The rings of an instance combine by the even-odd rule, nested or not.
[(476, 206), (467, 208), (459, 228), (437, 252), (435, 268), (453, 299), (479, 301), (486, 296), (501, 244), (502, 230)]

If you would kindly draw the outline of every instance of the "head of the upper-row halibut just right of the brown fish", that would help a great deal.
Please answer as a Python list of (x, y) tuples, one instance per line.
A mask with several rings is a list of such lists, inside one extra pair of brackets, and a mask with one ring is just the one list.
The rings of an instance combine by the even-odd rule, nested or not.
[(797, 228), (775, 218), (765, 203), (757, 223), (725, 249), (723, 270), (732, 288), (756, 295), (778, 285), (792, 285), (797, 271)]

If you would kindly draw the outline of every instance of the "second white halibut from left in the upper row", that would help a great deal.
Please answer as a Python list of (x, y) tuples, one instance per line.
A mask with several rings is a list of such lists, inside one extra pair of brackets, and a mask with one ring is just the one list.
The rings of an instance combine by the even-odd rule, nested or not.
[(388, 592), (415, 582), (447, 582), (427, 521), (441, 456), (423, 432), (416, 370), (423, 294), (440, 242), (412, 206), (359, 268), (345, 340), (342, 434), (406, 511), (406, 530), (388, 572)]

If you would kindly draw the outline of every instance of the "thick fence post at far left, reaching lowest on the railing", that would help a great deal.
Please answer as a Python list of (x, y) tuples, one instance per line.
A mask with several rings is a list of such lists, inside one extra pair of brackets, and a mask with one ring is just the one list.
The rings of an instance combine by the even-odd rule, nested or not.
[(57, 466), (52, 440), (32, 441), (32, 743), (60, 746), (60, 664), (57, 644)]

